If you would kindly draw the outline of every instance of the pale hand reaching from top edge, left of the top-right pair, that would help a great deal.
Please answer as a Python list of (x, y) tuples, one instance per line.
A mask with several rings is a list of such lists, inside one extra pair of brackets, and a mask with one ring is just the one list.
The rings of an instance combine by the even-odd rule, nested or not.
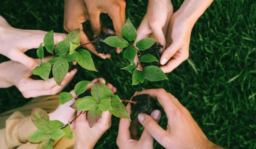
[[(160, 49), (160, 52), (163, 52), (166, 47), (165, 35), (172, 14), (173, 6), (171, 0), (148, 0), (147, 13), (137, 29), (137, 39), (134, 44), (143, 38), (155, 38), (163, 46)], [(136, 56), (134, 63), (138, 63), (138, 60)]]

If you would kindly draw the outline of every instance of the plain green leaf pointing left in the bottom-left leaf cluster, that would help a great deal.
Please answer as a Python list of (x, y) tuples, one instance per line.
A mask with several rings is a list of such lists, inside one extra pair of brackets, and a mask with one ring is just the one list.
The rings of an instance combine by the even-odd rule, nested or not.
[(32, 132), (31, 135), (29, 135), (29, 142), (37, 143), (41, 140), (44, 140), (44, 138), (49, 138), (50, 135), (46, 132), (46, 130), (38, 129), (35, 132)]

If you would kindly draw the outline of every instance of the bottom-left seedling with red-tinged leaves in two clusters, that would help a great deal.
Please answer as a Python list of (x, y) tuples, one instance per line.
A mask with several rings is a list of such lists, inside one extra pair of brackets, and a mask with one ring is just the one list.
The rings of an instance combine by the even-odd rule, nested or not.
[[(37, 149), (52, 149), (54, 140), (58, 140), (62, 137), (73, 139), (74, 137), (72, 135), (70, 124), (72, 124), (82, 113), (87, 114), (87, 121), (90, 127), (93, 127), (93, 125), (97, 123), (97, 120), (99, 120), (103, 111), (109, 111), (116, 117), (131, 120), (128, 111), (122, 104), (122, 100), (120, 100), (117, 95), (114, 95), (108, 86), (102, 82), (93, 83), (90, 94), (88, 94), (86, 91), (89, 83), (91, 82), (83, 80), (76, 84), (74, 92), (79, 98), (76, 99), (70, 107), (81, 112), (67, 124), (58, 120), (49, 120), (46, 111), (40, 108), (34, 108), (32, 110), (31, 118), (38, 130), (29, 136), (29, 142), (38, 143), (43, 140)], [(81, 97), (80, 95), (83, 94), (87, 95)], [(72, 99), (73, 96), (70, 93), (62, 92), (59, 96), (59, 104), (67, 103)]]

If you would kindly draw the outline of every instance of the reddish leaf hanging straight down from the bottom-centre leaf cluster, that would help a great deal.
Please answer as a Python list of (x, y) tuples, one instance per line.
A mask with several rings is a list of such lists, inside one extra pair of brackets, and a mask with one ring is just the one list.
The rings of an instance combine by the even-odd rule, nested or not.
[(90, 128), (99, 120), (100, 116), (102, 115), (102, 111), (99, 109), (98, 106), (94, 106), (87, 112), (87, 121)]

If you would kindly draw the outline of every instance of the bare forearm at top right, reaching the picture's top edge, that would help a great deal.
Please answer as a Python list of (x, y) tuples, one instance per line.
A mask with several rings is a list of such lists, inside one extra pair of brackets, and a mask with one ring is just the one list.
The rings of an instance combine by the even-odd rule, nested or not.
[(184, 0), (180, 8), (175, 12), (193, 26), (213, 0)]

